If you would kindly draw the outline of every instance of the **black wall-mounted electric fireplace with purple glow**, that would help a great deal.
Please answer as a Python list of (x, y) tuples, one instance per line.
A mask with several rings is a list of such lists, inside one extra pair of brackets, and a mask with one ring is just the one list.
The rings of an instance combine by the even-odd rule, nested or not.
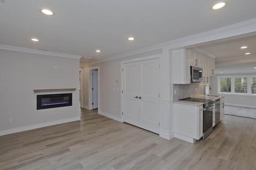
[(37, 95), (36, 101), (37, 110), (72, 106), (72, 93)]

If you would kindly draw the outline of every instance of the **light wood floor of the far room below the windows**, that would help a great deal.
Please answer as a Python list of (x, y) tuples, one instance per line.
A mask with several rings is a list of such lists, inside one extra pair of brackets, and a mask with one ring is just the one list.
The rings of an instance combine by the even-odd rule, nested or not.
[(256, 109), (250, 107), (225, 105), (225, 114), (256, 119)]

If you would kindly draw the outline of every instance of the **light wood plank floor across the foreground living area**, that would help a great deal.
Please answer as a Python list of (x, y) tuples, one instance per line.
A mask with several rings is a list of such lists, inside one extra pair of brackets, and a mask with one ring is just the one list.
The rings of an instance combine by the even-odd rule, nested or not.
[(256, 170), (256, 119), (225, 115), (191, 144), (83, 109), (81, 121), (0, 137), (1, 170)]

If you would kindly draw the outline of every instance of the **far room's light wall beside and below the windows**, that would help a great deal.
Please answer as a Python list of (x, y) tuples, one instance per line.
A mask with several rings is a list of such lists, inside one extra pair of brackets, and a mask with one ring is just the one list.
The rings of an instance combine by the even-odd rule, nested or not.
[[(210, 94), (218, 94), (218, 81), (217, 76), (210, 76)], [(231, 106), (253, 107), (256, 108), (256, 96), (237, 96), (237, 95), (224, 95), (225, 104)]]

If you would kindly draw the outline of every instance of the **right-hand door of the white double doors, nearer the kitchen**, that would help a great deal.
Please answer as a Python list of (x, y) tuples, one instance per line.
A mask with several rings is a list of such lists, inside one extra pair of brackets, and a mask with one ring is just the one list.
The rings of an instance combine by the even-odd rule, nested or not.
[(139, 63), (139, 125), (159, 134), (159, 59)]

